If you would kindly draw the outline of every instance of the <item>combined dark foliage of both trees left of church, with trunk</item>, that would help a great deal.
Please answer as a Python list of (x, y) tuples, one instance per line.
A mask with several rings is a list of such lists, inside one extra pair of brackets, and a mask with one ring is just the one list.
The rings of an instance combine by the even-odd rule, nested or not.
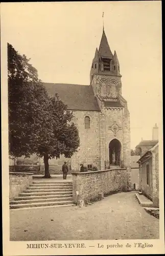
[(79, 133), (73, 113), (57, 94), (48, 96), (29, 61), (8, 44), (9, 154), (43, 157), (45, 177), (50, 177), (48, 160), (71, 157), (79, 147)]

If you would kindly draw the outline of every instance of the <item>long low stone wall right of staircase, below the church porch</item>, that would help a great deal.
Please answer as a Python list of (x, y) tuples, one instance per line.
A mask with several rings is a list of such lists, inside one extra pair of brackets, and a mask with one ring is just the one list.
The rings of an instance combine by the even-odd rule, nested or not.
[(98, 198), (99, 193), (110, 195), (115, 191), (127, 191), (127, 168), (72, 173), (73, 200), (81, 195), (84, 202)]

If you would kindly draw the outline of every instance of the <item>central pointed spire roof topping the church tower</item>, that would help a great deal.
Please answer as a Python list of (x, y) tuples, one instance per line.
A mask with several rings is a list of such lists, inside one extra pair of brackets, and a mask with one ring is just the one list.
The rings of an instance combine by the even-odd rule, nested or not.
[(113, 57), (113, 54), (112, 54), (112, 52), (109, 48), (109, 45), (108, 45), (108, 40), (107, 40), (107, 37), (105, 35), (104, 27), (103, 27), (103, 34), (102, 34), (102, 39), (101, 39), (100, 47), (99, 47), (99, 54), (102, 57), (105, 57), (105, 58), (112, 58)]

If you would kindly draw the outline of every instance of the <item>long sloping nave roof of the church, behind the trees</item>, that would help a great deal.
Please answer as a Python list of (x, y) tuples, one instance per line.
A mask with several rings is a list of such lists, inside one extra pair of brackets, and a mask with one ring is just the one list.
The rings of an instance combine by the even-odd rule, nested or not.
[(100, 111), (91, 86), (68, 83), (43, 83), (43, 85), (49, 96), (57, 93), (68, 110)]

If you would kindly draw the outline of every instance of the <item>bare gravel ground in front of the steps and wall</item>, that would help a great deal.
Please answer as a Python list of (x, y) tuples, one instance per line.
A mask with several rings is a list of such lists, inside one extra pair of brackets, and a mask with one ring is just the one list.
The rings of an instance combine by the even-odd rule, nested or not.
[(139, 205), (133, 192), (83, 208), (10, 210), (11, 241), (158, 238), (159, 220)]

